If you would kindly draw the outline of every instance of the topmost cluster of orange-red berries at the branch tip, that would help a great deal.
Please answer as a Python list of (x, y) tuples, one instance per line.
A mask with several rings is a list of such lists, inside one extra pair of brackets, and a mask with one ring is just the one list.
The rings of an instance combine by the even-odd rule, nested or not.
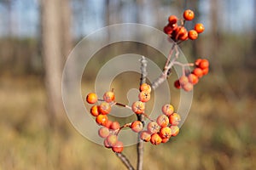
[(186, 20), (193, 20), (195, 17), (194, 12), (191, 9), (187, 9), (183, 12), (183, 19), (178, 23), (176, 15), (170, 15), (168, 18), (168, 24), (164, 27), (164, 32), (172, 38), (174, 42), (183, 42), (191, 39), (195, 40), (198, 34), (205, 30), (205, 27), (201, 23), (195, 24), (194, 30), (189, 30), (184, 27)]

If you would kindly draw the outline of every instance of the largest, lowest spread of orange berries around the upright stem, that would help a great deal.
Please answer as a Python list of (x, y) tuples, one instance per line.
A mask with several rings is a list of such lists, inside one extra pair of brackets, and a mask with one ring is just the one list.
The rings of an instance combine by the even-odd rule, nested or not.
[[(151, 87), (147, 83), (143, 83), (140, 86), (140, 93), (138, 94), (138, 100), (135, 101), (131, 107), (123, 104), (119, 104), (114, 100), (113, 91), (103, 94), (103, 99), (98, 99), (97, 95), (90, 93), (86, 96), (86, 101), (92, 105), (90, 107), (90, 114), (96, 117), (96, 123), (102, 127), (99, 128), (98, 134), (104, 139), (104, 145), (106, 148), (112, 148), (114, 152), (121, 152), (124, 148), (123, 143), (119, 141), (119, 131), (124, 127), (130, 127), (135, 133), (140, 133), (140, 139), (145, 142), (150, 141), (152, 144), (166, 143), (172, 136), (176, 136), (179, 132), (177, 125), (181, 121), (181, 117), (174, 112), (172, 105), (163, 105), (161, 111), (163, 114), (157, 117), (154, 121), (145, 113), (145, 103), (150, 99)], [(120, 126), (119, 122), (112, 122), (108, 119), (108, 114), (111, 111), (113, 105), (120, 105), (131, 109), (137, 115), (143, 115), (147, 117), (148, 122), (147, 130), (143, 130), (144, 125), (141, 121), (134, 121), (126, 123)]]

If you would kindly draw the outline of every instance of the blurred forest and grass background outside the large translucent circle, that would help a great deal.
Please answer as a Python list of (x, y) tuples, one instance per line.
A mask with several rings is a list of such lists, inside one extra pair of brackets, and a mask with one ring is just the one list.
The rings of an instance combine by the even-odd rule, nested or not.
[[(0, 169), (125, 169), (68, 121), (63, 65), (96, 29), (132, 22), (162, 30), (185, 8), (206, 31), (180, 48), (192, 62), (209, 59), (211, 70), (195, 86), (180, 134), (168, 144), (145, 144), (144, 169), (255, 169), (254, 0), (0, 0)], [(125, 148), (133, 164), (135, 151)]]

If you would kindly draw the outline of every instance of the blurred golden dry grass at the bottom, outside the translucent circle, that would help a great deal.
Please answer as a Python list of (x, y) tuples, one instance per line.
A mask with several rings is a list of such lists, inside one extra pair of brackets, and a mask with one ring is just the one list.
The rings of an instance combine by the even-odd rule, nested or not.
[[(214, 78), (202, 81), (181, 133), (168, 144), (145, 144), (144, 169), (256, 168), (255, 96), (230, 100)], [(125, 169), (68, 121), (62, 130), (48, 126), (41, 79), (2, 77), (0, 103), (0, 169)], [(125, 148), (132, 163), (134, 153), (134, 146)]]

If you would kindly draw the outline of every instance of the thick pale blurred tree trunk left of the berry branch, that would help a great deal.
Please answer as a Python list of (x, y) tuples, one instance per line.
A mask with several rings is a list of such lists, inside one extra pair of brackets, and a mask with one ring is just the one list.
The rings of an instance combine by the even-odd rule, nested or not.
[(72, 44), (71, 12), (68, 2), (68, 0), (41, 0), (45, 87), (49, 123), (54, 126), (63, 122), (65, 117), (61, 99), (61, 72), (65, 56), (69, 53)]

